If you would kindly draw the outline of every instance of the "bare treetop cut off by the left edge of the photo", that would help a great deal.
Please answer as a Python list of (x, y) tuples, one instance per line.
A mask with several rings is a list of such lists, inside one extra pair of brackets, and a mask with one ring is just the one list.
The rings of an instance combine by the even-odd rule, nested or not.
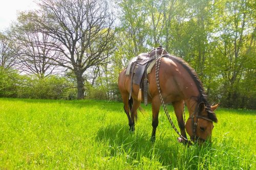
[(0, 32), (0, 67), (10, 68), (16, 63), (18, 49), (8, 35)]

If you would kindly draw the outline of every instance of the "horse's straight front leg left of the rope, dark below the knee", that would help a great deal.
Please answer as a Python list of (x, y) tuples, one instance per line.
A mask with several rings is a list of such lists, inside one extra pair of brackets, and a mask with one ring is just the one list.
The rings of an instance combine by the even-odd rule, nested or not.
[(159, 110), (160, 110), (160, 99), (155, 97), (152, 99), (152, 135), (151, 135), (152, 142), (155, 142), (156, 140), (156, 130), (158, 126)]

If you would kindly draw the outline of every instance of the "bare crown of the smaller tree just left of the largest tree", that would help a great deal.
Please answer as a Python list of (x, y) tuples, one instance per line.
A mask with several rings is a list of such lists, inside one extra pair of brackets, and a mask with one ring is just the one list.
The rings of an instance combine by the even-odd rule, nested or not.
[[(26, 17), (26, 14), (20, 17)], [(13, 26), (12, 35), (20, 48), (17, 67), (20, 71), (36, 75), (38, 78), (57, 73), (58, 66), (54, 60), (59, 59), (61, 55), (54, 46), (49, 45), (57, 43), (57, 40), (34, 31), (22, 20)]]

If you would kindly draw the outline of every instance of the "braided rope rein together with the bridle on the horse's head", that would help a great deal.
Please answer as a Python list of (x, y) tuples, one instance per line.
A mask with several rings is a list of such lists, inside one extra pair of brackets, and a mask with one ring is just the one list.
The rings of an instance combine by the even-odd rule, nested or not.
[[(198, 118), (203, 118), (205, 120), (208, 120), (209, 122), (213, 122), (211, 119), (209, 118), (206, 118), (206, 117), (203, 117), (203, 116), (199, 116), (198, 115), (198, 107), (200, 104), (197, 105), (197, 109), (194, 111), (193, 114), (191, 114), (191, 116), (188, 117), (189, 118), (192, 118), (192, 129), (193, 129), (193, 137), (191, 138), (192, 140), (188, 140), (187, 138), (183, 137), (180, 132), (177, 130), (177, 128), (175, 127), (174, 123), (173, 123), (173, 120), (172, 118), (170, 118), (170, 115), (168, 113), (168, 110), (167, 110), (167, 107), (166, 107), (166, 104), (164, 103), (164, 100), (163, 100), (163, 96), (162, 96), (162, 93), (161, 93), (161, 90), (160, 90), (160, 84), (159, 84), (159, 67), (160, 67), (160, 62), (161, 62), (161, 58), (163, 57), (163, 51), (164, 51), (164, 48), (162, 48), (162, 54), (157, 57), (157, 48), (156, 48), (156, 54), (155, 54), (155, 58), (156, 58), (156, 81), (157, 81), (157, 88), (158, 88), (158, 92), (159, 92), (159, 96), (160, 96), (160, 100), (161, 100), (161, 104), (162, 104), (162, 107), (164, 109), (164, 112), (165, 112), (165, 115), (167, 116), (168, 120), (169, 120), (169, 123), (170, 125), (172, 125), (173, 129), (175, 130), (175, 132), (180, 136), (180, 138), (182, 138), (185, 142), (188, 142), (189, 144), (192, 144), (191, 141), (193, 141), (194, 139), (201, 139), (201, 140), (204, 140), (200, 137), (198, 137), (196, 135), (196, 132), (197, 132), (197, 122), (198, 122)], [(184, 122), (185, 122), (185, 103), (184, 103), (184, 108), (183, 108), (183, 114), (184, 114)], [(194, 122), (194, 117), (196, 116), (196, 122)]]

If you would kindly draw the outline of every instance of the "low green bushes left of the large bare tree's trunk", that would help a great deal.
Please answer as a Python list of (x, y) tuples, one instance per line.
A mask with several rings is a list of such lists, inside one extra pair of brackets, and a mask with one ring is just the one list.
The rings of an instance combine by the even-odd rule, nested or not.
[(76, 89), (66, 78), (19, 75), (15, 70), (0, 68), (0, 97), (31, 99), (76, 98)]

